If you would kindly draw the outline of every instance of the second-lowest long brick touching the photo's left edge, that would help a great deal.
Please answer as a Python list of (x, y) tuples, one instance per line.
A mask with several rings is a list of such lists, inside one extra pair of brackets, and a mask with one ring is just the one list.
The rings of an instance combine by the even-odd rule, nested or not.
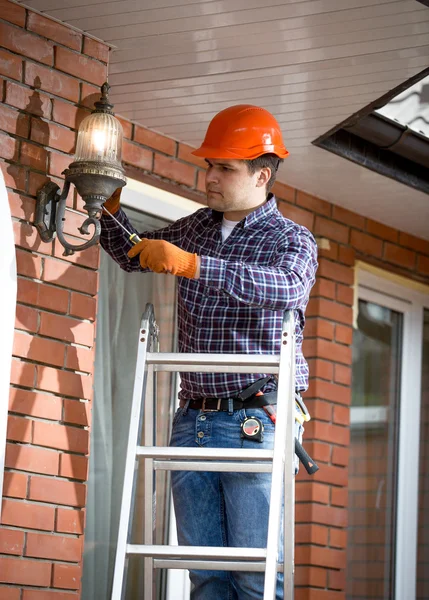
[(54, 517), (55, 509), (51, 506), (21, 500), (3, 500), (1, 522), (4, 525), (52, 531)]

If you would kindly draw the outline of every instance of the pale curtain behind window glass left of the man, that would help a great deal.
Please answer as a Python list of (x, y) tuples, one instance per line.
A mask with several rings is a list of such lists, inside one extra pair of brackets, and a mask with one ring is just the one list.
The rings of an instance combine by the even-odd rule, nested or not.
[[(165, 225), (154, 217), (128, 211), (139, 231)], [(107, 600), (111, 591), (118, 535), (125, 454), (136, 366), (138, 332), (147, 302), (155, 307), (161, 331), (161, 351), (174, 349), (175, 278), (153, 273), (125, 273), (104, 252), (101, 257), (96, 332), (94, 400), (92, 406), (90, 472), (86, 509), (83, 600)], [(171, 376), (158, 381), (158, 444), (167, 444), (172, 400)], [(165, 538), (168, 507), (165, 482), (157, 490), (157, 538)], [(133, 538), (141, 529), (143, 477), (137, 482)], [(133, 541), (135, 541), (133, 540)], [(141, 569), (130, 561), (127, 598), (141, 594)]]

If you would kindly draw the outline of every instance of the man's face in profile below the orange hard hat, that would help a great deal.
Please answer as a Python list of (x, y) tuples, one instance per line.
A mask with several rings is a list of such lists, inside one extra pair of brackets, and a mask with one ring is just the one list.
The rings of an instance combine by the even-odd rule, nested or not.
[(242, 211), (252, 208), (260, 201), (260, 171), (252, 175), (244, 160), (210, 158), (206, 162), (209, 208), (220, 212)]

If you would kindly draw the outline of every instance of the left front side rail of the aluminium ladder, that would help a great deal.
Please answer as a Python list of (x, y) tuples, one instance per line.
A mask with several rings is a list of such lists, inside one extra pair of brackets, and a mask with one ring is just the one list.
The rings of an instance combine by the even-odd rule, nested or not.
[[(143, 334), (143, 331), (146, 333)], [(145, 311), (139, 330), (136, 370), (134, 376), (133, 399), (131, 404), (130, 428), (128, 433), (127, 454), (125, 459), (124, 483), (122, 488), (121, 512), (119, 517), (118, 542), (116, 547), (115, 567), (113, 571), (112, 600), (121, 600), (124, 587), (125, 561), (128, 534), (131, 519), (131, 504), (134, 495), (134, 479), (138, 443), (142, 399), (146, 383), (146, 355), (150, 340), (150, 320)]]

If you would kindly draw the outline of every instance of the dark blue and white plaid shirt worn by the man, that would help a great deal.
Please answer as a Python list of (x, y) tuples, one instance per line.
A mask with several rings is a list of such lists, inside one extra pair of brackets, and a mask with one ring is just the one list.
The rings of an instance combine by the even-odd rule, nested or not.
[[(126, 214), (115, 217), (136, 232)], [(308, 387), (302, 354), (304, 312), (317, 269), (311, 233), (284, 218), (276, 199), (240, 221), (223, 242), (222, 213), (202, 208), (141, 238), (164, 239), (201, 257), (199, 279), (178, 278), (179, 351), (279, 354), (283, 312), (296, 319), (296, 388)], [(125, 271), (143, 271), (129, 259), (131, 242), (108, 215), (101, 219), (101, 245)], [(180, 397), (230, 398), (264, 374), (181, 373)], [(270, 391), (275, 383), (264, 388)]]

